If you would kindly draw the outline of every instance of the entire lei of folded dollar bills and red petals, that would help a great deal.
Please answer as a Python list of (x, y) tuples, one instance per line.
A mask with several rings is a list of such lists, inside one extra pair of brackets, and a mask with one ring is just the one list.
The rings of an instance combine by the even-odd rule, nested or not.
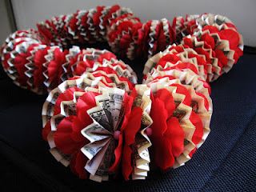
[[(2, 45), (14, 83), (37, 94), (50, 153), (79, 178), (145, 179), (185, 165), (210, 133), (210, 85), (242, 56), (242, 35), (221, 15), (142, 23), (97, 6), (18, 30)], [(93, 48), (107, 42), (114, 52)], [(143, 82), (118, 57), (147, 59)]]

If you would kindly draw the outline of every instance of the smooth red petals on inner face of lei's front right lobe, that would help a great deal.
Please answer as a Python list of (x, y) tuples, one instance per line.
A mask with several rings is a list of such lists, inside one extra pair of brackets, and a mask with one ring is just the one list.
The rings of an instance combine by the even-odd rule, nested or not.
[[(178, 119), (171, 117), (175, 104), (168, 90), (158, 90), (157, 95), (151, 96), (151, 100), (154, 161), (162, 170), (166, 170), (174, 165), (174, 158), (182, 153), (184, 132), (179, 126)], [(159, 115), (160, 112), (161, 115)]]

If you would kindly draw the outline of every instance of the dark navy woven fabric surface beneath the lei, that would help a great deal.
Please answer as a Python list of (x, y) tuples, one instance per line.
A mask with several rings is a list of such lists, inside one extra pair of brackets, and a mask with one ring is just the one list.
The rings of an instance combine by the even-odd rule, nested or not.
[[(130, 63), (141, 74), (142, 64)], [(46, 95), (22, 90), (1, 72), (0, 189), (256, 191), (255, 71), (256, 55), (245, 54), (230, 73), (211, 84), (211, 132), (186, 166), (166, 173), (151, 171), (145, 181), (103, 183), (80, 180), (55, 161), (41, 137)]]

